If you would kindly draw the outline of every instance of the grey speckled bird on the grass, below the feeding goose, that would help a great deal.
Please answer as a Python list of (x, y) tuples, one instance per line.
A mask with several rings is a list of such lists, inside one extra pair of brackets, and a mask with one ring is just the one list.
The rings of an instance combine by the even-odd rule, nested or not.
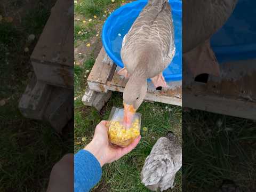
[(168, 133), (155, 143), (141, 171), (141, 181), (150, 190), (173, 188), (175, 174), (182, 164), (182, 148), (177, 137)]

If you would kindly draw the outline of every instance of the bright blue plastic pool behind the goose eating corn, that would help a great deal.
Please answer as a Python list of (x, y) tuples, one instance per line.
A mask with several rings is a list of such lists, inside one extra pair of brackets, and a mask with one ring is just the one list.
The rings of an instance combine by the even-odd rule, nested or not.
[[(170, 0), (174, 23), (175, 56), (170, 65), (163, 71), (166, 81), (182, 79), (182, 4), (180, 0)], [(125, 34), (132, 23), (147, 4), (147, 0), (139, 0), (119, 7), (110, 14), (102, 29), (102, 43), (109, 57), (120, 67), (123, 67), (120, 51)]]

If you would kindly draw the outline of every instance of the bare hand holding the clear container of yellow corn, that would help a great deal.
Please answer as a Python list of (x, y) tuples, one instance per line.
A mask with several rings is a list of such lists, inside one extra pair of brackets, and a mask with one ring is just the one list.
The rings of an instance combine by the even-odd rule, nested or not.
[(109, 144), (107, 121), (101, 121), (95, 129), (92, 141), (84, 148), (92, 153), (103, 166), (106, 163), (111, 163), (130, 153), (139, 143), (141, 136), (127, 147), (114, 147)]

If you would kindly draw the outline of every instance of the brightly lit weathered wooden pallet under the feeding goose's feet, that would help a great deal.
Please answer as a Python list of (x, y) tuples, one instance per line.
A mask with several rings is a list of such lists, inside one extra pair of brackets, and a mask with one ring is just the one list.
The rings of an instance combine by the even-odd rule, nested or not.
[[(127, 79), (117, 74), (117, 71), (121, 68), (106, 59), (106, 57), (106, 52), (102, 47), (91, 73), (87, 78), (89, 89), (82, 99), (85, 105), (97, 105), (96, 103), (93, 104), (93, 100), (100, 93), (108, 95), (111, 91), (123, 92), (124, 90)], [(156, 90), (154, 85), (148, 82), (148, 92), (145, 100), (181, 106), (181, 81), (168, 82), (167, 84), (167, 89)], [(97, 108), (100, 109), (103, 104), (104, 102)]]

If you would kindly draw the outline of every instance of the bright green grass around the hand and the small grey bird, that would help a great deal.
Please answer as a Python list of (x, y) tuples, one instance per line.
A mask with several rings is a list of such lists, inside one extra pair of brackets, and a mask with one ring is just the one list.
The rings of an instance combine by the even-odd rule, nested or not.
[[(81, 142), (75, 145), (75, 151), (90, 142), (95, 126), (102, 119), (108, 119), (113, 106), (122, 107), (120, 93), (113, 94), (102, 113), (83, 106), (80, 99), (75, 102), (75, 143)], [(101, 182), (93, 191), (99, 190), (103, 183), (106, 183), (109, 191), (149, 191), (140, 183), (140, 171), (156, 140), (166, 135), (168, 131), (173, 131), (181, 138), (181, 108), (165, 107), (166, 105), (162, 103), (146, 102), (141, 105), (138, 110), (142, 114), (141, 127), (147, 127), (147, 132), (141, 130), (142, 139), (132, 153), (115, 163), (103, 166)], [(81, 140), (83, 137), (86, 138), (84, 142)], [(175, 188), (167, 191), (181, 191), (181, 171), (177, 174), (175, 183), (177, 183)]]

